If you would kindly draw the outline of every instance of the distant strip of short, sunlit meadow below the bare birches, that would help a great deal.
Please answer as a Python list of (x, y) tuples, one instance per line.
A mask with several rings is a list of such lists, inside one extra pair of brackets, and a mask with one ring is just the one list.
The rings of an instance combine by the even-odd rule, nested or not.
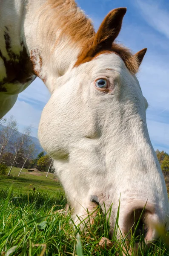
[(56, 193), (58, 190), (63, 192), (60, 183), (53, 178), (53, 174), (49, 173), (46, 178), (46, 172), (28, 172), (23, 169), (20, 176), (17, 177), (20, 168), (13, 167), (11, 175), (0, 175), (0, 188), (6, 189), (13, 185), (14, 191), (29, 192), (33, 188), (38, 189), (39, 192)]

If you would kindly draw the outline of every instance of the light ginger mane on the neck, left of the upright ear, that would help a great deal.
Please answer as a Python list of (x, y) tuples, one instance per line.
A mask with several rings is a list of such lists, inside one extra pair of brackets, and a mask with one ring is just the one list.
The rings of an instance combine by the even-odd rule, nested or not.
[(68, 35), (71, 41), (80, 47), (95, 35), (92, 21), (77, 7), (74, 0), (47, 0), (41, 9), (40, 22), (43, 27), (46, 26), (49, 41), (57, 32), (56, 28), (61, 28), (55, 46), (64, 35)]

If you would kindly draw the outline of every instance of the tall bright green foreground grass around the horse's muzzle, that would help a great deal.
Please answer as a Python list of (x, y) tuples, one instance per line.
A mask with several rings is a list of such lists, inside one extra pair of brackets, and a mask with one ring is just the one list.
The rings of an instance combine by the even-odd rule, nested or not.
[[(50, 193), (40, 191), (23, 193), (1, 189), (1, 256), (122, 255), (124, 241), (117, 241), (115, 236), (109, 250), (97, 246), (103, 236), (109, 237), (109, 224), (103, 212), (98, 211), (95, 224), (86, 227), (84, 234), (78, 228), (73, 229), (69, 223), (69, 214), (65, 216), (54, 212), (65, 205), (66, 199), (59, 192), (51, 196)], [(135, 239), (132, 238), (133, 244)], [(168, 237), (163, 235), (163, 239)], [(169, 248), (163, 239), (160, 238), (145, 255), (169, 256)], [(140, 250), (140, 255), (143, 255), (144, 246)]]

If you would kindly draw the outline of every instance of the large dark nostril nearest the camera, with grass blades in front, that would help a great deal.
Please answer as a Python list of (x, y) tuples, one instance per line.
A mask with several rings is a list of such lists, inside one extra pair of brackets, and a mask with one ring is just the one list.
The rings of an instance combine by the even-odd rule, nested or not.
[[(156, 213), (158, 212), (158, 213)], [(164, 226), (162, 221), (163, 212), (154, 204), (143, 201), (134, 201), (127, 204), (121, 215), (121, 231), (125, 238), (126, 251), (128, 248), (129, 255), (137, 255), (137, 250), (143, 246), (148, 248), (152, 241), (158, 238), (157, 227)], [(134, 242), (134, 243), (133, 243)], [(146, 247), (144, 247), (146, 245)], [(135, 252), (132, 254), (132, 252)]]

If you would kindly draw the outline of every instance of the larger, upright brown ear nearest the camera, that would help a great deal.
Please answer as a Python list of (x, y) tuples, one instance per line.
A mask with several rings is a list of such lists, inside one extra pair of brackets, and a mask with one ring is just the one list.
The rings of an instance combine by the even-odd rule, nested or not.
[(109, 12), (95, 35), (95, 45), (103, 44), (106, 48), (112, 47), (113, 41), (115, 41), (120, 32), (126, 10), (126, 8), (117, 8)]

